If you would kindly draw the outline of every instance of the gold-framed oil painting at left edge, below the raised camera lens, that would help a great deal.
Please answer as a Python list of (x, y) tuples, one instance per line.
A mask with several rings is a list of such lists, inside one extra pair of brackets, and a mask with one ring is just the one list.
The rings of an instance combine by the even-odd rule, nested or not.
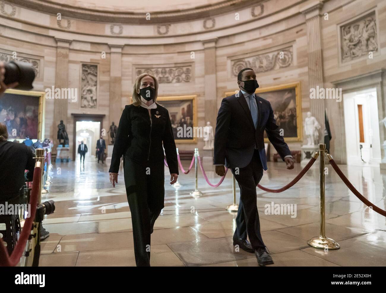
[(0, 122), (8, 139), (44, 139), (44, 92), (8, 89), (0, 98)]

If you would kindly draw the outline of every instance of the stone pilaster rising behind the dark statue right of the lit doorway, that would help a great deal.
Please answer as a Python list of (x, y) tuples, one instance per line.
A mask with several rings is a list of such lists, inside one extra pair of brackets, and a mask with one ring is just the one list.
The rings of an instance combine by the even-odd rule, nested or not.
[[(110, 97), (108, 126), (114, 121), (118, 126), (122, 115), (122, 45), (110, 46)], [(108, 131), (108, 129), (107, 129)]]

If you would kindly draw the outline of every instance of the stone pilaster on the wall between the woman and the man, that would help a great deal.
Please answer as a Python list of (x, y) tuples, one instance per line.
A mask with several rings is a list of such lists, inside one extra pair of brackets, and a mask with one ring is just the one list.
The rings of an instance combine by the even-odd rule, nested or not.
[(205, 89), (205, 125), (207, 121), (215, 127), (217, 117), (217, 83), (216, 83), (216, 41), (215, 39), (203, 40), (204, 45), (204, 89)]

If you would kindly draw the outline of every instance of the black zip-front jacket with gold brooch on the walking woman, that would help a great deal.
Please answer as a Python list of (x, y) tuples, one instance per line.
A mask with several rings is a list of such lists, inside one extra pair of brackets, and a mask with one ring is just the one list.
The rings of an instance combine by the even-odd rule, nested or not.
[(163, 161), (165, 149), (170, 174), (178, 174), (176, 144), (169, 112), (157, 104), (149, 112), (141, 106), (126, 105), (119, 121), (109, 172), (118, 173), (122, 155), (137, 162)]

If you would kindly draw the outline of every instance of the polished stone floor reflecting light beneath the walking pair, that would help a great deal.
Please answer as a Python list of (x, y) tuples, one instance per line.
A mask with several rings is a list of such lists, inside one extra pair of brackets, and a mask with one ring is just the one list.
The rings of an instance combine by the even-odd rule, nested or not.
[[(185, 169), (190, 162), (183, 161)], [(257, 189), (261, 233), (272, 254), (273, 266), (386, 266), (386, 218), (367, 208), (327, 165), (326, 234), (339, 250), (319, 250), (307, 240), (319, 235), (319, 181), (315, 165), (293, 187), (281, 193)], [(42, 201), (55, 201), (44, 227), (51, 233), (42, 242), (41, 266), (135, 266), (132, 223), (121, 166), (117, 186), (108, 180), (108, 165), (86, 159), (53, 165), (52, 184)], [(211, 160), (204, 163), (209, 180), (217, 183)], [(386, 208), (386, 174), (376, 167), (340, 168), (354, 186), (382, 209)], [(268, 163), (260, 182), (279, 188), (298, 172), (283, 162)], [(194, 169), (179, 175), (181, 187), (169, 185), (165, 168), (165, 208), (151, 237), (152, 266), (257, 266), (254, 254), (235, 251), (232, 235), (236, 213), (231, 204), (232, 176), (217, 187), (209, 186), (198, 171), (200, 198), (192, 198)], [(239, 188), (237, 187), (237, 201)], [(265, 205), (296, 204), (296, 217), (269, 215)]]

